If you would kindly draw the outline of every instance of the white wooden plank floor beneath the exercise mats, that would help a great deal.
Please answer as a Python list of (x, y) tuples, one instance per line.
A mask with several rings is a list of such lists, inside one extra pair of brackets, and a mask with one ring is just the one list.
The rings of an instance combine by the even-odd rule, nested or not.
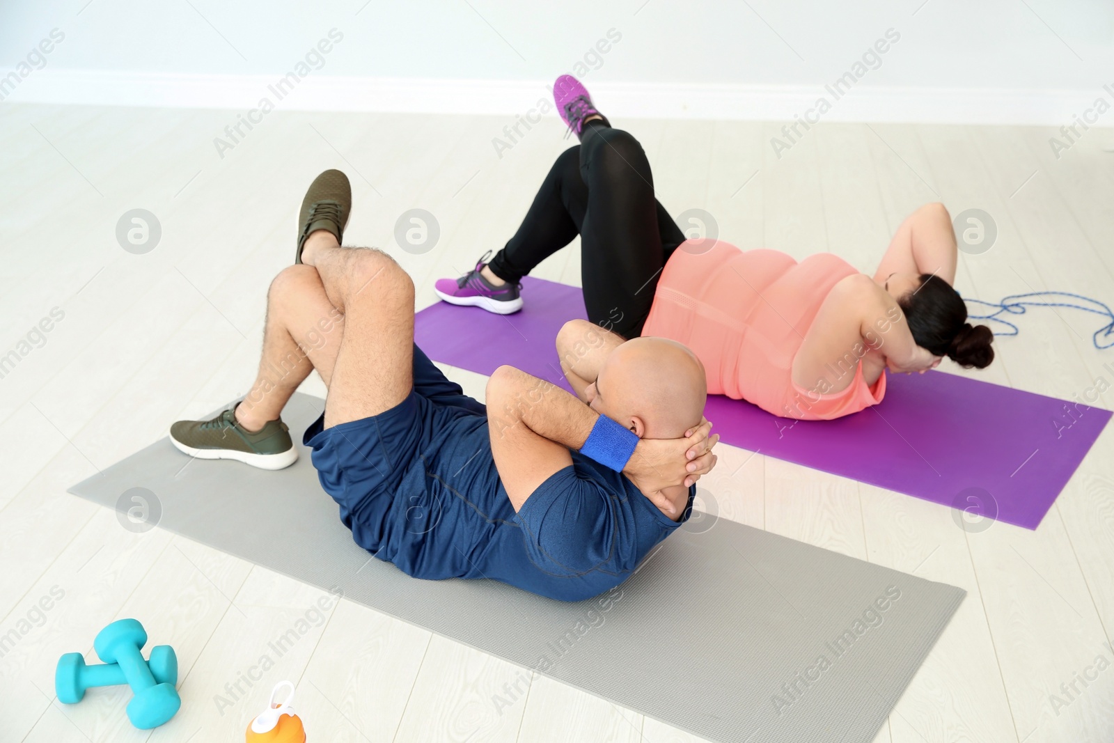
[[(65, 313), (0, 379), (0, 637), (14, 639), (0, 651), (0, 740), (242, 740), (283, 678), (315, 743), (694, 740), (543, 677), (500, 715), (492, 695), (519, 668), (348, 600), (319, 620), (321, 592), (159, 529), (135, 534), (65, 492), (244, 391), (268, 280), (291, 260), (317, 172), (350, 175), (346, 242), (390, 250), (424, 306), (436, 277), (502, 245), (570, 144), (555, 119), (500, 158), (491, 139), (505, 117), (276, 111), (222, 159), (212, 140), (234, 123), (229, 111), (0, 106), (0, 354), (51, 309)], [(832, 251), (870, 270), (908, 212), (942, 201), (987, 211), (999, 231), (990, 251), (961, 257), (964, 293), (1114, 302), (1111, 130), (1055, 160), (1037, 128), (821, 125), (778, 159), (780, 125), (616, 124), (643, 141), (673, 214), (705, 209), (741, 247)], [(136, 207), (163, 231), (144, 255), (115, 236)], [(441, 229), (421, 255), (392, 237), (414, 207)], [(576, 251), (538, 275), (579, 283)], [(1091, 345), (1093, 316), (1034, 311), (1020, 323), (980, 378), (1065, 399), (1114, 383), (1114, 350)], [(482, 378), (450, 374), (482, 394)], [(306, 388), (322, 392), (315, 378)], [(1098, 404), (1114, 407), (1114, 391)], [(1107, 430), (1035, 532), (965, 532), (940, 506), (723, 446), (704, 485), (722, 516), (968, 592), (879, 742), (1098, 742), (1114, 740), (1112, 452)], [(182, 663), (183, 710), (149, 733), (128, 724), (126, 690), (53, 698), (58, 656), (89, 652), (124, 616)], [(226, 690), (307, 616), (262, 681), (241, 682), (246, 698)]]

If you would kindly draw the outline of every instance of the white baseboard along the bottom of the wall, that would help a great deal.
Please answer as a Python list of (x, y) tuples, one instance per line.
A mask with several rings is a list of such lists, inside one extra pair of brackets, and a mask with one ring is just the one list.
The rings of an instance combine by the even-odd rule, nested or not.
[[(275, 110), (526, 115), (551, 101), (545, 81), (307, 77), (276, 95), (278, 76), (184, 75), (118, 70), (32, 71), (4, 101), (247, 111), (267, 98)], [(608, 115), (638, 118), (792, 121), (824, 96), (823, 121), (925, 124), (1071, 124), (1110, 92), (886, 87), (859, 84), (833, 100), (822, 86), (585, 80)], [(550, 109), (549, 115), (554, 115)], [(1105, 124), (1105, 123), (1101, 123)]]

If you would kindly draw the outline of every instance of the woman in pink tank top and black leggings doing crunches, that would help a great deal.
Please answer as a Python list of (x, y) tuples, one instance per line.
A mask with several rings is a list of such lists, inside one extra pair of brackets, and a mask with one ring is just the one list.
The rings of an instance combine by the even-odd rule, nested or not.
[(554, 98), (580, 145), (557, 158), (504, 250), (437, 282), (446, 302), (517, 312), (520, 278), (579, 234), (593, 323), (680, 341), (704, 363), (710, 393), (778, 416), (829, 420), (877, 404), (887, 369), (922, 373), (945, 355), (967, 368), (994, 360), (990, 329), (967, 323), (951, 287), (956, 238), (942, 205), (901, 224), (873, 278), (830, 253), (798, 263), (685, 241), (654, 198), (637, 140), (612, 128), (575, 78), (558, 78)]

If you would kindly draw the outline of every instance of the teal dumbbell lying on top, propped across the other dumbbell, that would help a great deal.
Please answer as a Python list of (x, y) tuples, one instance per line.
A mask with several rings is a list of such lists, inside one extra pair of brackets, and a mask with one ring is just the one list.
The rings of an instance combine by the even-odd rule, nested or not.
[(182, 697), (173, 684), (155, 681), (139, 651), (147, 632), (135, 619), (118, 619), (92, 641), (92, 649), (105, 663), (116, 663), (135, 696), (128, 702), (128, 720), (139, 730), (158, 727), (177, 714)]

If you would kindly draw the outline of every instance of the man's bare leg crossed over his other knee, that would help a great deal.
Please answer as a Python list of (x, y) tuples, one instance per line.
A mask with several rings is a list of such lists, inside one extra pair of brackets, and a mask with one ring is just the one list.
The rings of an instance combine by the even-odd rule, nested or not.
[(414, 286), (389, 255), (342, 248), (310, 235), (302, 262), (316, 268), (332, 306), (344, 314), (325, 401), (325, 428), (390, 410), (413, 387)]

